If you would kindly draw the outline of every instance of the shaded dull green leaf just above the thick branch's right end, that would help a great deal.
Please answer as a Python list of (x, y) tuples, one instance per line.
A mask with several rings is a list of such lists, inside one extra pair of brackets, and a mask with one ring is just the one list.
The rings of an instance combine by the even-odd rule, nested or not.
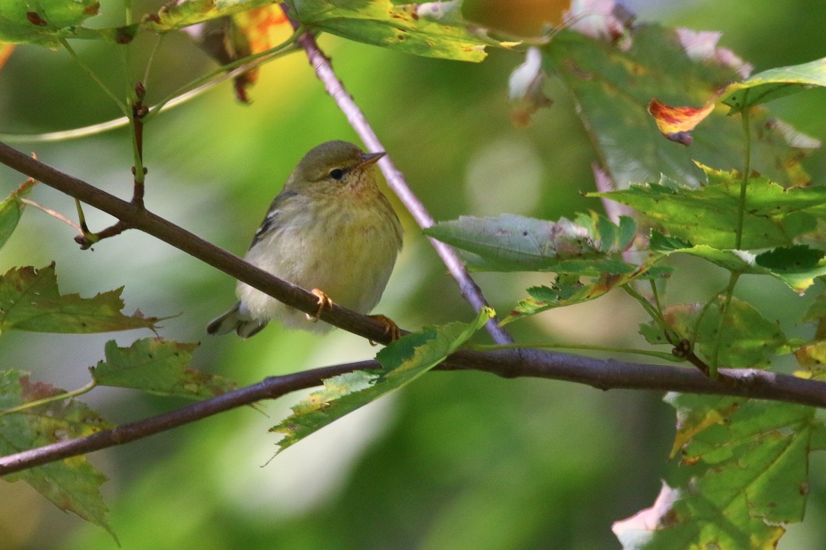
[[(699, 345), (700, 353), (706, 358), (713, 357), (714, 350), (719, 348), (719, 367), (768, 367), (770, 358), (790, 352), (790, 344), (780, 327), (767, 320), (751, 304), (737, 298), (732, 298), (729, 303), (723, 329), (719, 330), (722, 300), (720, 296), (707, 308), (700, 304), (669, 306), (663, 317), (668, 327), (681, 338)], [(640, 331), (648, 342), (667, 344), (659, 323), (652, 321), (648, 325), (647, 329)]]

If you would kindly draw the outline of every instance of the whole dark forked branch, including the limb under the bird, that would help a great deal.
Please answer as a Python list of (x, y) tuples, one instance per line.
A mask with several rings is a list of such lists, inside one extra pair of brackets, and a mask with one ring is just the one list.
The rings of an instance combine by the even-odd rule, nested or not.
[[(122, 201), (2, 143), (0, 143), (0, 162), (105, 211), (128, 223), (132, 228), (154, 235), (183, 252), (221, 269), (231, 277), (246, 282), (262, 292), (267, 292), (289, 306), (307, 313), (315, 313), (317, 310), (317, 298), (310, 292), (255, 268), (234, 254), (192, 235), (187, 230), (131, 202)], [(330, 311), (325, 310), (322, 319), (364, 338), (379, 342), (387, 341), (387, 334), (384, 334), (385, 327), (381, 322), (343, 307), (334, 306)], [(377, 363), (374, 362), (352, 363), (271, 378), (259, 385), (242, 388), (166, 415), (102, 431), (88, 438), (55, 443), (10, 455), (0, 459), (0, 474), (17, 472), (26, 467), (126, 443), (126, 441), (214, 415), (222, 410), (247, 405), (260, 399), (282, 396), (288, 391), (316, 386), (322, 378), (341, 372), (348, 372), (355, 368), (376, 367), (376, 365)], [(439, 370), (478, 370), (506, 378), (548, 378), (577, 382), (602, 390), (624, 388), (683, 391), (770, 399), (826, 408), (826, 384), (823, 382), (755, 369), (720, 369), (721, 376), (719, 380), (714, 381), (693, 368), (626, 363), (539, 349), (500, 349), (488, 352), (463, 350), (453, 353), (445, 363), (437, 368)]]

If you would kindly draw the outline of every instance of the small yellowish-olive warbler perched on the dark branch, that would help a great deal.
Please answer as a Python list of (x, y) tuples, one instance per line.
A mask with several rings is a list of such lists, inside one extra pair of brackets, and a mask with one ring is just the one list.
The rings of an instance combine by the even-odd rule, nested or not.
[[(319, 298), (305, 315), (238, 282), (239, 301), (207, 325), (209, 334), (233, 330), (249, 338), (270, 320), (325, 333), (314, 323), (331, 301), (368, 314), (382, 297), (401, 250), (399, 218), (376, 184), (374, 164), (385, 153), (364, 153), (346, 141), (328, 141), (304, 155), (255, 232), (244, 259)], [(398, 328), (381, 318), (397, 334)]]

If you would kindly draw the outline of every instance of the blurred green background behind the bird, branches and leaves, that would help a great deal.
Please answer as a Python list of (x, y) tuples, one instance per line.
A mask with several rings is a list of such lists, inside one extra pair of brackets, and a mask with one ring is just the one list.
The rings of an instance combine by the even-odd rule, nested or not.
[[(466, 0), (464, 12), (488, 26), (530, 34), (542, 21), (558, 22), (559, 3)], [(814, 0), (626, 3), (642, 21), (723, 31), (721, 45), (756, 71), (826, 55), (826, 10)], [(139, 2), (136, 9), (158, 6)], [(119, 2), (102, 2), (104, 15), (96, 24), (117, 24), (119, 9)], [(140, 78), (153, 41), (141, 36), (132, 48), (130, 80)], [(571, 98), (553, 78), (547, 87), (553, 107), (540, 111), (527, 128), (510, 124), (506, 83), (522, 62), (519, 55), (491, 51), (482, 64), (462, 64), (332, 36), (320, 44), (437, 220), (501, 212), (557, 219), (601, 209), (581, 195), (594, 187), (596, 154)], [(75, 46), (107, 83), (123, 89), (127, 80), (117, 50)], [(147, 82), (147, 101), (213, 67), (186, 36), (167, 36)], [(241, 105), (225, 84), (145, 129), (147, 206), (237, 254), (244, 253), (270, 200), (306, 150), (331, 139), (358, 142), (300, 53), (265, 66), (250, 95), (252, 104)], [(823, 90), (771, 105), (820, 140), (826, 138), (824, 107)], [(63, 130), (118, 114), (62, 50), (18, 47), (0, 72), (0, 132)], [(12, 145), (118, 196), (131, 192), (125, 130), (59, 144)], [(826, 181), (823, 153), (806, 167), (815, 183)], [(3, 194), (21, 181), (0, 168)], [(44, 185), (31, 198), (68, 215), (74, 211), (74, 202)], [(468, 320), (471, 312), (453, 279), (392, 200), (406, 226), (405, 249), (377, 311), (410, 329)], [(92, 209), (87, 216), (93, 229), (112, 221)], [(29, 209), (0, 252), (0, 269), (55, 260), (62, 292), (91, 296), (125, 286), (126, 311), (178, 315), (164, 321), (161, 334), (201, 341), (195, 367), (240, 384), (376, 351), (342, 331), (318, 337), (272, 326), (248, 341), (207, 338), (207, 321), (235, 300), (229, 277), (136, 231), (93, 252), (78, 250), (73, 236), (68, 226)], [(668, 301), (699, 300), (723, 286), (723, 272), (686, 265), (691, 277), (670, 283)], [(491, 304), (506, 312), (525, 287), (548, 280), (537, 273), (486, 273), (477, 282)], [(794, 321), (810, 298), (777, 300), (792, 295), (779, 282), (763, 280), (744, 279), (740, 292), (792, 334), (808, 334)], [(636, 330), (643, 320), (633, 301), (612, 293), (509, 328), (523, 340), (633, 346), (641, 341)], [(108, 339), (128, 345), (148, 335), (10, 332), (0, 339), (2, 368), (31, 371), (36, 379), (73, 389), (88, 382), (87, 367), (102, 358)], [(661, 397), (434, 372), (265, 467), (275, 450), (267, 429), (298, 395), (264, 404), (264, 414), (233, 410), (90, 460), (110, 477), (103, 491), (122, 548), (619, 548), (610, 524), (651, 505), (661, 478), (674, 485), (684, 476), (667, 459), (674, 414)], [(84, 399), (116, 422), (184, 403), (108, 388)], [(805, 522), (791, 526), (779, 548), (826, 548), (824, 465), (822, 457), (813, 457)], [(28, 486), (2, 483), (0, 550), (20, 548), (116, 545), (102, 529), (60, 513)]]

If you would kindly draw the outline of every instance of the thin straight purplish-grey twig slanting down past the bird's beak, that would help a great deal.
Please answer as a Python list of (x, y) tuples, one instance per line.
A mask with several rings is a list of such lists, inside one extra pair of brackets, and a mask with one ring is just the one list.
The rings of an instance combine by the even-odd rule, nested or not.
[[(287, 15), (287, 19), (292, 23), (293, 28), (298, 28), (297, 21), (290, 17), (290, 14), (287, 12), (287, 7), (284, 4), (282, 4), (282, 9)], [(298, 37), (297, 43), (306, 51), (307, 59), (310, 60), (313, 69), (316, 70), (316, 75), (320, 81), (324, 83), (327, 93), (330, 94), (330, 97), (333, 98), (339, 106), (339, 109), (347, 116), (350, 126), (353, 126), (354, 130), (356, 130), (356, 133), (362, 139), (364, 145), (371, 151), (383, 151), (384, 147), (382, 143), (378, 140), (376, 133), (364, 117), (361, 109), (359, 109), (358, 105), (353, 101), (353, 97), (351, 97), (344, 88), (344, 84), (335, 76), (333, 67), (330, 65), (330, 59), (320, 50), (316, 39), (311, 33), (305, 32)], [(416, 223), (419, 224), (422, 229), (433, 225), (434, 220), (433, 217), (430, 216), (430, 212), (428, 212), (420, 202), (419, 197), (416, 197), (415, 193), (408, 187), (404, 174), (393, 164), (390, 155), (386, 155), (379, 160), (378, 166), (382, 169), (382, 173), (387, 179), (387, 186), (396, 193), (396, 196), (399, 197), (401, 203), (410, 211)], [(458, 257), (458, 254), (456, 254), (456, 251), (439, 240), (429, 239), (434, 249), (436, 249), (436, 253), (442, 258), (444, 265), (447, 266), (450, 274), (456, 279), (456, 282), (458, 282), (459, 291), (462, 293), (462, 296), (470, 303), (475, 311), (482, 311), (483, 307), (488, 306), (487, 300), (485, 296), (482, 295), (482, 290), (476, 282), (473, 281), (464, 263)], [(497, 344), (513, 344), (514, 339), (499, 325), (499, 320), (496, 317), (488, 320), (485, 327), (488, 333), (491, 334), (491, 338), (493, 338)]]

